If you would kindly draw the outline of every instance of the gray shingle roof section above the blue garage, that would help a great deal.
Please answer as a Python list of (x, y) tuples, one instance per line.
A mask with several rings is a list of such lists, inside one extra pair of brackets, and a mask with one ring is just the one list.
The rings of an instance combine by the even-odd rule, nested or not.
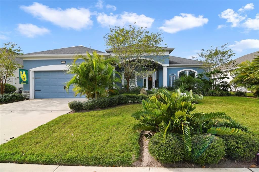
[(47, 51), (39, 51), (39, 52), (33, 52), (33, 53), (27, 53), (25, 55), (30, 54), (84, 54), (86, 52), (92, 53), (92, 51), (96, 51), (97, 53), (105, 53), (102, 51), (94, 50), (87, 48), (85, 46), (79, 45), (79, 46), (72, 46), (68, 48), (60, 48), (60, 49), (54, 49), (54, 50), (47, 50)]

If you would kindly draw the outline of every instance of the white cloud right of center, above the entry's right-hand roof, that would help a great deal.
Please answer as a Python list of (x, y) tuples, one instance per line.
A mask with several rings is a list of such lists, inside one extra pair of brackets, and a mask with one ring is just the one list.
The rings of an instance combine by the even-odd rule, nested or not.
[(176, 33), (181, 30), (200, 27), (208, 23), (208, 19), (203, 15), (195, 17), (193, 14), (181, 13), (181, 16), (175, 16), (170, 20), (166, 20), (163, 26), (159, 27), (164, 32)]

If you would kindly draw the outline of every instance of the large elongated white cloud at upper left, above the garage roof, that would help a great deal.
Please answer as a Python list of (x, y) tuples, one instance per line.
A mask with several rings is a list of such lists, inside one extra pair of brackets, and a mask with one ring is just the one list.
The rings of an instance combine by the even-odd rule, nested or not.
[(41, 20), (50, 21), (55, 25), (82, 29), (92, 25), (91, 12), (85, 8), (68, 8), (62, 10), (61, 8), (50, 8), (49, 6), (34, 2), (30, 6), (21, 6), (21, 9), (27, 13), (32, 14)]

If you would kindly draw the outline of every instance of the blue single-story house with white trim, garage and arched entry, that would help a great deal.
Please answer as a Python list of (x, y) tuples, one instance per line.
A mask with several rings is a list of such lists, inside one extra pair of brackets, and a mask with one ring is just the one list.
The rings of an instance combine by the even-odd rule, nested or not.
[[(196, 77), (202, 73), (202, 62), (192, 59), (170, 56), (174, 48), (163, 47), (163, 60), (146, 56), (145, 59), (155, 61), (159, 64), (158, 70), (150, 73), (148, 76), (138, 78), (135, 76), (130, 80), (131, 86), (143, 87), (146, 83), (146, 89), (157, 88), (161, 86), (173, 86), (177, 77), (190, 75)], [(24, 85), (24, 90), (30, 91), (30, 98), (73, 98), (72, 90), (69, 93), (64, 89), (64, 83), (70, 80), (72, 75), (65, 75), (64, 71), (76, 54), (85, 54), (97, 51), (103, 56), (113, 56), (112, 50), (106, 52), (93, 50), (84, 46), (74, 46), (48, 51), (27, 53), (19, 58), (23, 59), (24, 69), (28, 70), (29, 84)], [(80, 62), (80, 59), (78, 60)], [(123, 69), (116, 67), (116, 71), (122, 72), (122, 83), (126, 84), (123, 75)]]

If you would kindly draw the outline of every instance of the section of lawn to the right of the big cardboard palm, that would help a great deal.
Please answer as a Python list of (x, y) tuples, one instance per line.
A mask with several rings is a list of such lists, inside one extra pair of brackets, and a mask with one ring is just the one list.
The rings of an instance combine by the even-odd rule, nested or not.
[(225, 112), (259, 134), (259, 100), (247, 97), (204, 97), (196, 112)]

